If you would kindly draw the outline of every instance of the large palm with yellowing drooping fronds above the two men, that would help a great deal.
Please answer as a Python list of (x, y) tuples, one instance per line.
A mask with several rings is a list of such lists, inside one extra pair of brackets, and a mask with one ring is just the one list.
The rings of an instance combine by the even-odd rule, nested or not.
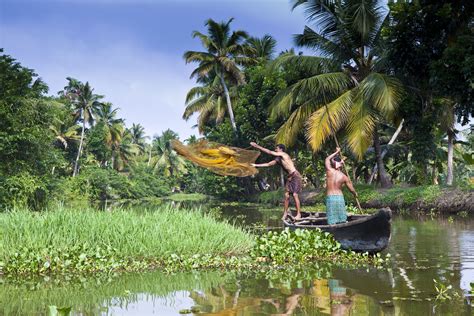
[(402, 96), (401, 83), (384, 74), (382, 27), (388, 14), (377, 0), (294, 0), (303, 6), (316, 29), (306, 26), (295, 37), (300, 47), (321, 56), (284, 54), (275, 63), (304, 70), (308, 76), (278, 93), (272, 116), (289, 115), (277, 133), (291, 143), (307, 124), (306, 137), (314, 151), (345, 129), (351, 151), (361, 159), (374, 143), (379, 180), (391, 185), (383, 160), (377, 126), (394, 119)]

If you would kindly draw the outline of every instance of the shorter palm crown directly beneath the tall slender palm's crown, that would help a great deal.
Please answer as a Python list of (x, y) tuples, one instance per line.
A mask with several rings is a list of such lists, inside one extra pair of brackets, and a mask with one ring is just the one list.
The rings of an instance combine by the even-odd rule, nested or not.
[[(197, 126), (201, 134), (204, 133), (204, 127), (208, 123), (215, 122), (216, 125), (221, 123), (228, 112), (224, 101), (226, 99), (225, 91), (219, 81), (215, 77), (213, 82), (194, 87), (186, 95), (186, 109), (183, 119), (188, 120), (194, 113), (199, 113)], [(237, 97), (235, 86), (230, 87), (229, 97), (231, 102), (235, 101)]]

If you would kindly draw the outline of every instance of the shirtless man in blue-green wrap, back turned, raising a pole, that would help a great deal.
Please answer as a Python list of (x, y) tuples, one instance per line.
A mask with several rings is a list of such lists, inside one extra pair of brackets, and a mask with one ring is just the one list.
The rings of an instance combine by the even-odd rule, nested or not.
[(326, 213), (328, 224), (333, 225), (347, 221), (346, 203), (342, 194), (342, 186), (346, 185), (349, 191), (357, 197), (357, 192), (352, 186), (352, 182), (340, 169), (344, 160), (336, 157), (341, 149), (336, 148), (336, 152), (329, 155), (325, 160), (326, 165)]

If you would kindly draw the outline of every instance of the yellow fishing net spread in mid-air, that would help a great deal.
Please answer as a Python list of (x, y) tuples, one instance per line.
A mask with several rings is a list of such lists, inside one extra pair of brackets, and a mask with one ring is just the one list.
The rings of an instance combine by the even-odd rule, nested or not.
[(228, 147), (206, 140), (188, 146), (178, 140), (173, 140), (171, 144), (181, 156), (223, 176), (248, 177), (258, 172), (251, 164), (257, 160), (259, 151)]

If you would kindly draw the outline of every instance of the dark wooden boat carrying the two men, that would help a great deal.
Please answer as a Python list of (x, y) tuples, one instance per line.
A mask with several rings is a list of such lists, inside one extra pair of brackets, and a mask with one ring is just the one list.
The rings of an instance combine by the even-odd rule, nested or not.
[(347, 222), (328, 225), (326, 213), (301, 212), (302, 219), (295, 221), (288, 216), (283, 224), (290, 229), (316, 229), (331, 233), (343, 249), (376, 253), (387, 248), (390, 242), (392, 211), (378, 210), (371, 215), (347, 216)]

